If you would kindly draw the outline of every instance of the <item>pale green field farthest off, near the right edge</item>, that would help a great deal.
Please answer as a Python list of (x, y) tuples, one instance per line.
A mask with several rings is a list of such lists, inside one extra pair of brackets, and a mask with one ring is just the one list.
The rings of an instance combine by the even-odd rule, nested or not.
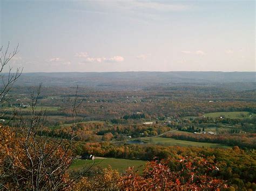
[(234, 111), (234, 112), (213, 112), (204, 114), (205, 117), (224, 117), (224, 118), (248, 118), (255, 116), (247, 111)]

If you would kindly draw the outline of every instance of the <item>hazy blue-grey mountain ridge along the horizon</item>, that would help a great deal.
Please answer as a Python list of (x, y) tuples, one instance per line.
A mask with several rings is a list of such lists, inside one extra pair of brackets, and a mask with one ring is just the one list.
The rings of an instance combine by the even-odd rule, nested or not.
[(19, 86), (83, 86), (100, 89), (142, 89), (151, 86), (177, 86), (178, 84), (217, 86), (237, 83), (256, 89), (256, 72), (65, 72), (23, 73)]

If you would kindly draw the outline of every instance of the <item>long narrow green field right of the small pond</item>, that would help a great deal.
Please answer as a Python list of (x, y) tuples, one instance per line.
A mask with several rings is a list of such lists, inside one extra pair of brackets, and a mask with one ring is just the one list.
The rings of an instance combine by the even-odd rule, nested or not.
[(143, 140), (147, 141), (151, 144), (159, 144), (165, 146), (198, 146), (198, 147), (221, 147), (227, 148), (228, 146), (217, 144), (217, 143), (199, 143), (199, 142), (190, 142), (187, 140), (177, 140), (173, 138), (163, 138), (163, 137), (153, 137), (153, 138), (143, 138)]

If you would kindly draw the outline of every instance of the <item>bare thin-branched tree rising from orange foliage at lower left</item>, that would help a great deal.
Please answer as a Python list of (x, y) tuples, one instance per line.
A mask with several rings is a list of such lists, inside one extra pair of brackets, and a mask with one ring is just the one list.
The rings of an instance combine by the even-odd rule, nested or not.
[(85, 166), (82, 173), (70, 176), (70, 165), (75, 160), (72, 151), (76, 146), (74, 141), (78, 125), (76, 114), (82, 103), (78, 100), (78, 87), (75, 98), (70, 100), (73, 123), (68, 139), (44, 135), (43, 130), (45, 130), (47, 122), (46, 110), (37, 109), (41, 90), (42, 84), (36, 93), (31, 92), (31, 117), (29, 120), (24, 118), (21, 111), (17, 111), (17, 125), (14, 129), (19, 137), (22, 137), (20, 144), (23, 151), (23, 165), (15, 165), (16, 158), (8, 159), (6, 162), (8, 165), (4, 170), (5, 178), (8, 176), (8, 179), (3, 180), (12, 182), (15, 189), (68, 189), (94, 165), (93, 162), (90, 166)]

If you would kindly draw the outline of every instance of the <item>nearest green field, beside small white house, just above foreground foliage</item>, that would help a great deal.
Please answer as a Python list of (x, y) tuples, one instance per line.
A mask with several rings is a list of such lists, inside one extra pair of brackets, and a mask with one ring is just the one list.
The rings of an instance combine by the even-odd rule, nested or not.
[[(73, 170), (78, 170), (78, 169), (82, 169), (83, 167), (90, 167), (92, 163), (93, 163), (93, 160), (76, 159), (70, 168)], [(130, 167), (133, 166), (134, 169), (138, 169), (139, 172), (142, 172), (145, 163), (146, 161), (143, 161), (143, 160), (129, 160), (129, 159), (115, 159), (115, 158), (95, 159), (96, 166), (107, 168), (110, 165), (112, 169), (117, 169), (121, 173), (124, 173), (129, 166)]]

